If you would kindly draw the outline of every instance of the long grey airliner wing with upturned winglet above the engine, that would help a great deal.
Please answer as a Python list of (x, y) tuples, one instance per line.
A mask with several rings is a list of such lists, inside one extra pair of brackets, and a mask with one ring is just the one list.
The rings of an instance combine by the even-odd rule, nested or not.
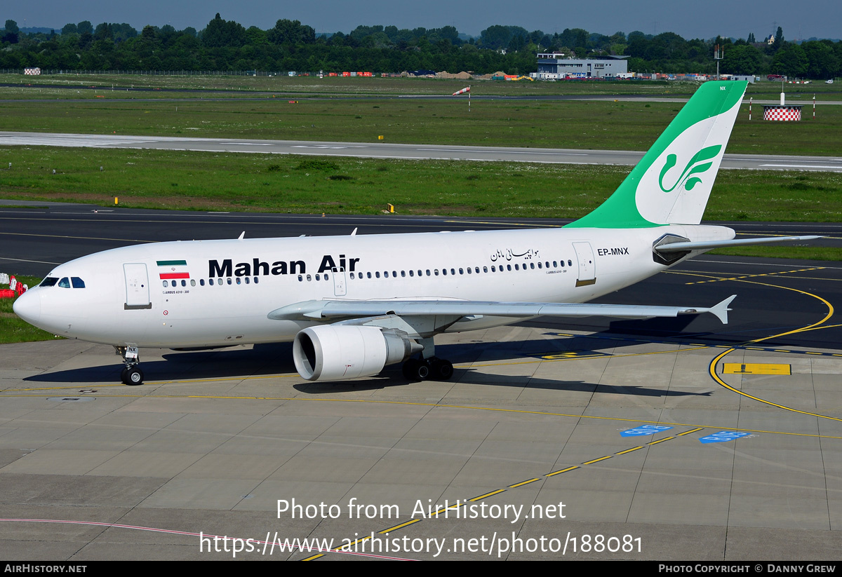
[(736, 294), (712, 307), (651, 306), (640, 304), (595, 303), (500, 303), (476, 300), (307, 300), (269, 313), (273, 320), (332, 320), (341, 317), (397, 316), (612, 316), (622, 319), (648, 319), (656, 316), (711, 313), (727, 325), (728, 307)]

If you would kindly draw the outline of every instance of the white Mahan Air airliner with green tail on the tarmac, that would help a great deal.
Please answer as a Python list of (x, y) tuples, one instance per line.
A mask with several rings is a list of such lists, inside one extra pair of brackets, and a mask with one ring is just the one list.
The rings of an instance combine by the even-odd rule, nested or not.
[(402, 363), (409, 380), (448, 379), (441, 333), (541, 315), (618, 318), (709, 307), (589, 304), (702, 252), (818, 236), (735, 240), (701, 225), (746, 82), (706, 82), (605, 203), (562, 228), (175, 241), (77, 258), (14, 303), (32, 325), (109, 344), (125, 384), (141, 347), (292, 341), (311, 381), (364, 378)]

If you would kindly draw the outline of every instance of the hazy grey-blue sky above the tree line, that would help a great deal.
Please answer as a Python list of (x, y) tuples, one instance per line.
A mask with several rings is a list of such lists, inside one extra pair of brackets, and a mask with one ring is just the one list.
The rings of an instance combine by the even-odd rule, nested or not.
[(205, 28), (216, 13), (235, 20), (246, 28), (269, 29), (278, 19), (300, 20), (317, 32), (348, 33), (360, 24), (398, 28), (440, 28), (455, 26), (461, 33), (478, 36), (493, 24), (514, 24), (527, 30), (540, 29), (547, 34), (565, 28), (583, 28), (589, 32), (626, 34), (640, 30), (645, 34), (674, 32), (685, 39), (708, 39), (717, 34), (745, 38), (753, 32), (761, 37), (781, 26), (786, 40), (810, 37), (842, 37), (842, 3), (839, 0), (813, 0), (808, 4), (791, 0), (591, 0), (562, 3), (559, 0), (146, 0), (140, 3), (114, 0), (27, 0), (3, 3), (0, 23), (15, 20), (19, 27), (61, 29), (68, 22), (90, 20), (126, 22), (140, 30), (146, 24), (175, 29), (192, 26)]

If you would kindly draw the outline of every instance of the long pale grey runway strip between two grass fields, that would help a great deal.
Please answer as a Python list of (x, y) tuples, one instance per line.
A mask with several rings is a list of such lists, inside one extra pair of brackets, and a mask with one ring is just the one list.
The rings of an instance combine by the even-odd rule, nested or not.
[[(74, 135), (39, 132), (0, 132), (0, 146), (69, 146), (138, 148), (168, 151), (242, 152), (397, 158), (403, 160), (466, 160), (546, 162), (557, 164), (614, 164), (634, 166), (642, 151), (593, 151), (504, 146), (408, 145), (385, 142), (329, 142), (317, 140), (253, 140), (248, 138), (187, 138), (142, 135)], [(726, 154), (722, 168), (751, 170), (842, 171), (842, 158)]]

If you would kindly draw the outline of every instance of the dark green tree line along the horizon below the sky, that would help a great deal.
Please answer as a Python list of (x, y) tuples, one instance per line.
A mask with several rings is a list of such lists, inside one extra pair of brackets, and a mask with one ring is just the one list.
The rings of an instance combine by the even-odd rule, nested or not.
[(716, 71), (715, 45), (724, 57), (720, 71), (831, 78), (842, 74), (842, 41), (785, 40), (778, 29), (773, 43), (745, 40), (685, 40), (679, 34), (605, 35), (584, 29), (561, 34), (494, 25), (474, 38), (453, 26), (398, 29), (358, 26), (348, 34), (316, 34), (298, 20), (280, 19), (270, 29), (245, 28), (216, 14), (204, 29), (176, 30), (147, 25), (138, 33), (129, 24), (85, 20), (50, 34), (24, 34), (13, 20), (0, 33), (0, 68), (40, 66), (53, 70), (121, 71), (472, 71), (487, 74), (536, 71), (536, 53), (567, 56), (627, 56), (629, 71)]

